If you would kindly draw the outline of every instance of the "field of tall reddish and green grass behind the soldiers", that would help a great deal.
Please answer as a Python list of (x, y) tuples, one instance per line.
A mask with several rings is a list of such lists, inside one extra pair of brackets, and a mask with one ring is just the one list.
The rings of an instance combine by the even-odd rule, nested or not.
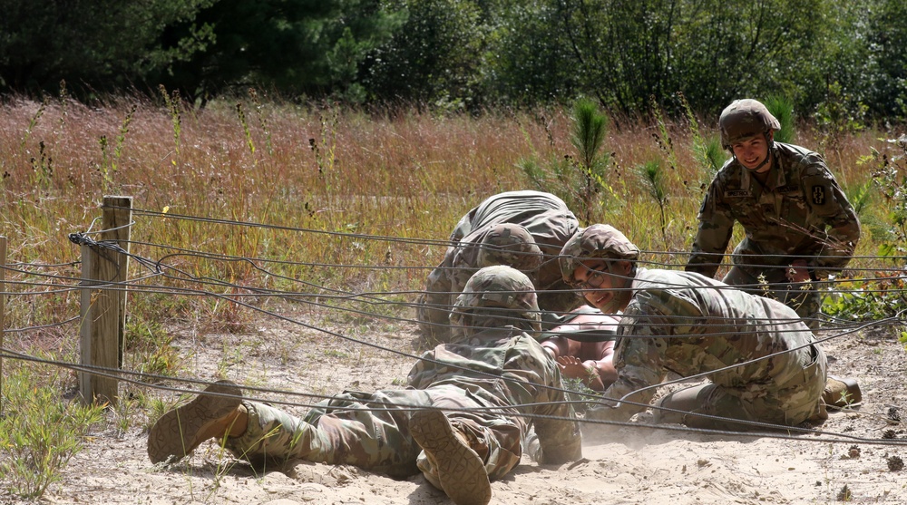
[[(690, 119), (613, 118), (598, 196), (593, 205), (574, 208), (623, 230), (656, 264), (684, 263), (711, 179), (698, 153), (717, 141), (715, 118)], [(877, 255), (882, 246), (902, 255), (903, 193), (895, 190), (903, 185), (898, 156), (905, 149), (887, 140), (903, 131), (833, 136), (808, 121), (796, 131), (795, 143), (823, 152), (860, 209), (855, 277), (872, 277), (861, 276), (862, 268), (887, 272), (899, 265), (898, 271), (902, 258), (892, 263)], [(482, 199), (541, 189), (580, 202), (570, 136), (571, 112), (562, 110), (368, 114), (331, 104), (263, 102), (255, 95), (211, 102), (200, 111), (171, 96), (161, 103), (120, 98), (94, 106), (65, 97), (8, 100), (0, 107), (9, 330), (0, 404), (6, 413), (38, 413), (63, 404), (61, 393), (73, 388), (68, 369), (9, 353), (78, 361), (80, 248), (69, 236), (99, 230), (95, 219), (105, 195), (132, 197), (131, 253), (150, 261), (130, 263), (129, 277), (136, 280), (126, 367), (191, 375), (168, 340), (170, 325), (191, 322), (200, 332), (229, 333), (255, 320), (256, 310), (283, 303), (331, 307), (339, 315), (335, 322), (405, 324), (412, 318), (407, 304), (443, 256), (453, 225)], [(541, 171), (530, 178), (526, 166)], [(559, 178), (558, 167), (566, 175)], [(886, 167), (901, 171), (873, 186), (873, 175)], [(886, 190), (900, 196), (884, 199)], [(897, 274), (884, 277), (884, 289), (902, 300)], [(16, 403), (31, 390), (47, 400)], [(152, 408), (141, 399), (133, 406)], [(38, 495), (54, 468), (65, 464), (60, 452), (77, 450), (86, 422), (102, 415), (119, 416), (124, 427), (130, 422), (128, 404), (106, 413), (60, 408), (78, 411), (54, 418), (68, 420), (60, 421), (68, 426), (57, 434), (62, 442), (50, 434), (15, 441), (12, 424), (4, 425), (0, 454), (38, 447), (16, 457), (34, 458), (31, 470), (7, 465), (0, 481), (21, 483), (29, 471), (43, 473), (47, 482), (22, 487), (22, 494)], [(21, 416), (0, 422), (15, 417)], [(56, 459), (42, 462), (41, 454)]]

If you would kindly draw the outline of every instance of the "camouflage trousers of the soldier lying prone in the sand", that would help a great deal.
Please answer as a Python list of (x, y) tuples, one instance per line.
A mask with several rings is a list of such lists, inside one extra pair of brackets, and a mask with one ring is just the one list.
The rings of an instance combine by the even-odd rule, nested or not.
[[(345, 392), (318, 403), (300, 419), (264, 403), (243, 402), (249, 412), (246, 432), (229, 438), (227, 448), (249, 461), (301, 459), (354, 465), (392, 477), (419, 471), (437, 476), (409, 432), (413, 409), (445, 410), (454, 430), (465, 435), (485, 462), (490, 479), (499, 479), (520, 462), (522, 418), (490, 405), (450, 384), (426, 389)], [(450, 411), (447, 411), (450, 409)], [(471, 412), (457, 412), (471, 410)]]

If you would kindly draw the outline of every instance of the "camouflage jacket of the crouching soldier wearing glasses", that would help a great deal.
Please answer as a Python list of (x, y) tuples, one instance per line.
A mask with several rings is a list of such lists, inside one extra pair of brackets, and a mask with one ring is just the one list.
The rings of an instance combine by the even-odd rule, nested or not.
[[(672, 270), (638, 268), (632, 289), (618, 327), (618, 380), (606, 398), (660, 384), (668, 372), (705, 374), (741, 396), (764, 395), (796, 387), (814, 360), (813, 334), (776, 300)], [(782, 354), (766, 357), (775, 353)], [(622, 403), (619, 417), (642, 412), (654, 394), (651, 387), (630, 395), (627, 400), (641, 405)]]

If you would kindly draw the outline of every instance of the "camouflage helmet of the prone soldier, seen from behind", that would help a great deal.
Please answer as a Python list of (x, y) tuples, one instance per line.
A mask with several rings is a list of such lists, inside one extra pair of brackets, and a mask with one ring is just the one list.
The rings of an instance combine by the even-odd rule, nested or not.
[[(527, 325), (541, 331), (541, 314), (535, 286), (526, 274), (513, 267), (483, 267), (466, 281), (451, 312), (454, 335), (469, 332), (467, 326), (481, 325), (473, 316), (499, 319), (503, 325)], [(528, 328), (527, 328), (528, 329)]]

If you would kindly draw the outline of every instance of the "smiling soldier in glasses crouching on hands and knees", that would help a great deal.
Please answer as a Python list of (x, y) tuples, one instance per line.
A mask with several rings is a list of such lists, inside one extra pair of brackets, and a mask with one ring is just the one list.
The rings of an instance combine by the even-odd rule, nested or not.
[(795, 426), (826, 419), (825, 403), (861, 400), (851, 380), (826, 384), (813, 333), (776, 300), (693, 272), (638, 267), (639, 248), (608, 225), (581, 228), (561, 255), (564, 281), (602, 312), (623, 313), (618, 379), (594, 418), (627, 421), (642, 412), (668, 372), (710, 382), (662, 398), (656, 422), (736, 431), (752, 426), (735, 420)]

